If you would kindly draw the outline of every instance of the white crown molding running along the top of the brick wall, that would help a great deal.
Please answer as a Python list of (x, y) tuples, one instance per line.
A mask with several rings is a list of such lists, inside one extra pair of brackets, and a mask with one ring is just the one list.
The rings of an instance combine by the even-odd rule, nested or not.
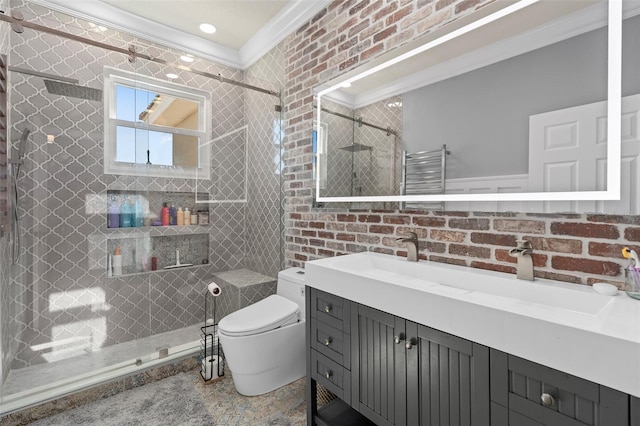
[(292, 0), (240, 48), (240, 62), (251, 66), (289, 34), (331, 3), (331, 0)]

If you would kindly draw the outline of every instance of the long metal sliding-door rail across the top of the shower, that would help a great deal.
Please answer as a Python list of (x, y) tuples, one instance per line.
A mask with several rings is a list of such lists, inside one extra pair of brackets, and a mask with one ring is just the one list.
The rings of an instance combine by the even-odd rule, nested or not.
[(241, 81), (236, 81), (236, 80), (231, 80), (229, 78), (225, 78), (220, 74), (211, 74), (205, 71), (199, 71), (199, 70), (194, 70), (190, 67), (181, 65), (181, 64), (175, 64), (169, 61), (165, 61), (164, 59), (160, 59), (160, 58), (156, 58), (150, 55), (146, 55), (144, 53), (139, 53), (136, 51), (134, 46), (129, 46), (129, 48), (124, 49), (121, 47), (117, 47), (117, 46), (112, 46), (110, 44), (106, 44), (106, 43), (101, 43), (99, 41), (95, 41), (95, 40), (91, 40), (85, 37), (80, 37), (74, 34), (69, 34), (67, 32), (64, 31), (60, 31), (60, 30), (56, 30), (55, 28), (49, 28), (49, 27), (45, 27), (44, 25), (40, 25), (40, 24), (35, 24), (33, 22), (28, 22), (28, 21), (24, 21), (23, 19), (21, 19), (22, 17), (17, 15), (18, 18), (14, 18), (11, 16), (7, 16), (4, 13), (0, 13), (0, 21), (4, 21), (4, 22), (8, 22), (9, 24), (11, 24), (12, 28), (15, 27), (26, 27), (26, 28), (30, 28), (32, 30), (35, 31), (40, 31), (40, 32), (44, 32), (47, 34), (52, 34), (58, 37), (63, 37), (69, 40), (74, 40), (74, 41), (78, 41), (80, 43), (85, 43), (85, 44), (89, 44), (91, 46), (95, 46), (95, 47), (99, 47), (105, 50), (110, 50), (112, 52), (118, 52), (118, 53), (122, 53), (124, 55), (129, 56), (129, 61), (131, 62), (135, 62), (136, 58), (141, 58), (141, 59), (145, 59), (147, 61), (151, 61), (151, 62), (155, 62), (158, 64), (162, 64), (162, 65), (167, 65), (173, 68), (177, 68), (183, 71), (187, 71), (193, 74), (197, 74), (200, 75), (202, 77), (207, 77), (207, 78), (211, 78), (214, 80), (218, 80), (221, 83), (229, 83), (229, 84), (233, 84), (235, 86), (240, 86), (242, 88), (245, 89), (250, 89), (250, 90), (255, 90), (257, 92), (261, 92), (261, 93), (266, 93), (268, 95), (271, 96), (276, 96), (277, 98), (280, 98), (280, 93), (273, 91), (273, 90), (269, 90), (269, 89), (264, 89), (262, 87), (258, 87), (258, 86), (253, 86), (251, 84), (247, 84), (247, 83), (243, 83)]

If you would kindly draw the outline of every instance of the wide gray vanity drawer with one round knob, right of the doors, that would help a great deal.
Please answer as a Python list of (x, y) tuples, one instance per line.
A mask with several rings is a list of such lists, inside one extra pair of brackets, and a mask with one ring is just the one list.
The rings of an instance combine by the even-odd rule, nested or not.
[(495, 387), (492, 383), (492, 399), (507, 401), (510, 425), (519, 416), (549, 426), (628, 424), (627, 395), (516, 356), (503, 354), (503, 358), (506, 383)]

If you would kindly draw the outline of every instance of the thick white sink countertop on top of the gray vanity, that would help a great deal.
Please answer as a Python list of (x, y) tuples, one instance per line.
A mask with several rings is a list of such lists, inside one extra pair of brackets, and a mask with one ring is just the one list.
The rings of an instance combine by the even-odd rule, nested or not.
[(305, 269), (310, 287), (640, 397), (640, 300), (624, 292), (369, 252)]

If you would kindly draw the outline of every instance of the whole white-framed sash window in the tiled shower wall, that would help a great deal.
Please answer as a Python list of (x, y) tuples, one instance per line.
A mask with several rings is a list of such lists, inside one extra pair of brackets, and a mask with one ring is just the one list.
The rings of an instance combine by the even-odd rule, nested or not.
[(209, 179), (206, 92), (105, 69), (105, 173)]

